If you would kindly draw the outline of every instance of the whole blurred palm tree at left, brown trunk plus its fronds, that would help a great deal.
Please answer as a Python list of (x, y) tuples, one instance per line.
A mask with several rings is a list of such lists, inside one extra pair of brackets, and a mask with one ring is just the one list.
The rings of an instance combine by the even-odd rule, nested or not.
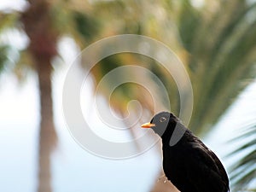
[[(79, 1), (67, 4), (65, 2), (49, 3), (46, 0), (36, 0), (27, 1), (27, 3), (28, 6), (23, 12), (13, 11), (5, 13), (3, 11), (0, 15), (0, 29), (3, 32), (7, 29), (17, 29), (20, 32), (25, 32), (30, 41), (26, 49), (19, 50), (20, 61), (16, 61), (15, 69), (21, 68), (21, 71), (24, 73), (27, 68), (32, 68), (38, 74), (41, 113), (38, 144), (38, 192), (51, 192), (50, 155), (57, 143), (53, 119), (52, 60), (58, 56), (57, 43), (63, 35), (72, 34), (73, 38), (79, 38), (76, 29), (74, 30), (73, 27), (67, 24), (79, 27), (79, 22), (88, 18), (79, 13), (80, 6), (75, 7)], [(57, 9), (59, 5), (62, 6), (61, 9)], [(84, 7), (82, 10), (84, 11)], [(63, 23), (65, 18), (68, 19), (64, 20)], [(92, 20), (87, 21), (89, 22), (87, 26), (93, 22)], [(62, 25), (65, 26), (65, 30), (63, 30)], [(81, 27), (79, 29), (81, 30)], [(90, 34), (96, 35), (93, 27), (84, 32), (87, 32), (89, 36), (87, 38), (90, 38)], [(80, 44), (82, 43), (80, 42)], [(0, 49), (0, 69), (3, 69), (9, 67), (8, 55), (12, 49), (6, 44), (1, 44)], [(20, 74), (17, 75), (20, 76)]]

